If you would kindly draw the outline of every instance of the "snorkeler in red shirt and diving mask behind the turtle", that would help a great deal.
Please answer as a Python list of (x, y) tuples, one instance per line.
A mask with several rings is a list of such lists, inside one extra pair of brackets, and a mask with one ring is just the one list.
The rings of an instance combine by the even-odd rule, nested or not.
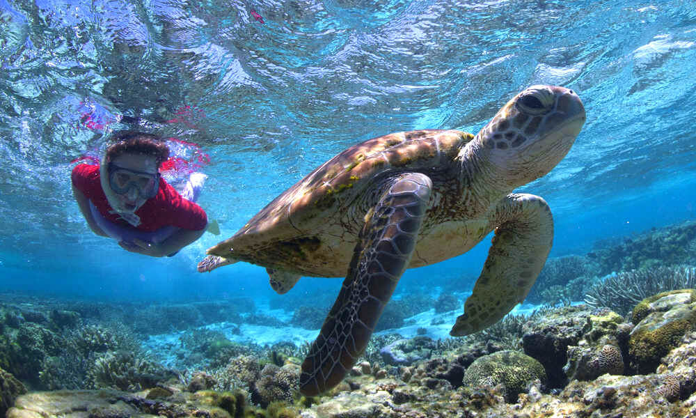
[[(94, 233), (127, 251), (173, 256), (205, 232), (207, 215), (193, 201), (205, 175), (193, 173), (187, 199), (161, 178), (169, 148), (153, 134), (116, 132), (100, 166), (78, 164), (72, 192)], [(193, 184), (192, 184), (193, 183)]]

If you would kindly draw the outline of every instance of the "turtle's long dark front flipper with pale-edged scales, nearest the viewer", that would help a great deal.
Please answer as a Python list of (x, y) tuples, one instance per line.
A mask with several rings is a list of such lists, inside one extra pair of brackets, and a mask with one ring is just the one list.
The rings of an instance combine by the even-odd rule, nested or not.
[(315, 396), (338, 385), (365, 350), (409, 265), (431, 189), (425, 174), (402, 174), (389, 181), (365, 217), (348, 275), (302, 363), (302, 394)]

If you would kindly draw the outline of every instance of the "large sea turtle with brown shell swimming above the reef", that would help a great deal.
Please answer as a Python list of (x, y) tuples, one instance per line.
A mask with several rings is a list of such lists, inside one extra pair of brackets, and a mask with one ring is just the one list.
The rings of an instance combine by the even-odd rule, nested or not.
[(338, 385), (363, 353), (406, 268), (463, 254), (495, 229), (450, 334), (483, 330), (524, 300), (551, 250), (553, 218), (544, 199), (512, 190), (551, 171), (583, 123), (576, 93), (532, 86), (476, 136), (416, 130), (364, 141), (209, 248), (198, 271), (237, 261), (262, 265), (278, 293), (301, 276), (345, 277), (302, 364), (301, 393), (319, 394)]

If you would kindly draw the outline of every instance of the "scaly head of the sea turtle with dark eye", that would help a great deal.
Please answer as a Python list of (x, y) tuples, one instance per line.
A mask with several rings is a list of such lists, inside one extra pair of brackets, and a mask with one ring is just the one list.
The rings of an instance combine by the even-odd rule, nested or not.
[(551, 171), (583, 123), (585, 108), (572, 90), (531, 86), (507, 102), (477, 139), (500, 180), (518, 187)]

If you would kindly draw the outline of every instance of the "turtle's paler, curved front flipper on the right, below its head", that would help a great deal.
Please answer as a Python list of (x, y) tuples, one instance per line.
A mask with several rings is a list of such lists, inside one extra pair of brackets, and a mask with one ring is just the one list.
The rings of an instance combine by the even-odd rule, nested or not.
[(529, 293), (553, 244), (553, 217), (544, 199), (509, 194), (493, 214), (496, 235), (464, 314), (450, 335), (464, 336), (498, 322)]

